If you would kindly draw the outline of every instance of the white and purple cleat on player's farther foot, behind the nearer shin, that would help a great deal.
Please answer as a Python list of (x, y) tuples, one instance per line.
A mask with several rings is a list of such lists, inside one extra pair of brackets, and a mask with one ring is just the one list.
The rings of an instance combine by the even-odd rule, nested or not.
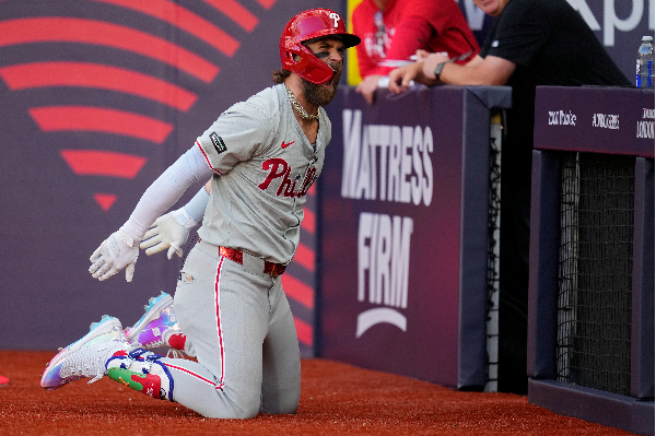
[(128, 342), (145, 350), (167, 347), (174, 356), (181, 357), (179, 352), (185, 351), (186, 337), (175, 317), (173, 297), (162, 292), (143, 308), (145, 314), (141, 319), (126, 329)]

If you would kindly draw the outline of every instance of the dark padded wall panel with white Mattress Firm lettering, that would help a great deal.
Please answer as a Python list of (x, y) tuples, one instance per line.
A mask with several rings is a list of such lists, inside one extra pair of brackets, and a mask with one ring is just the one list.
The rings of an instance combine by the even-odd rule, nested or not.
[[(327, 107), (332, 141), (320, 188), (320, 355), (452, 387), (471, 380), (460, 377), (462, 362), (484, 373), (489, 110), (464, 122), (467, 102), (480, 108), (484, 97), (464, 87), (401, 96), (378, 90), (368, 105), (349, 87)], [(482, 132), (482, 142), (465, 153), (470, 130)], [(472, 172), (475, 162), (482, 166)], [(482, 196), (480, 211), (466, 214), (469, 173), (482, 176), (472, 190)], [(466, 216), (482, 217), (482, 225), (462, 236)], [(469, 256), (464, 250), (473, 247), (473, 235), (483, 246)], [(467, 279), (481, 276), (482, 310), (461, 310), (462, 266)], [(462, 322), (462, 313), (472, 319)], [(482, 340), (470, 342), (464, 325)], [(462, 350), (481, 352), (462, 358)]]

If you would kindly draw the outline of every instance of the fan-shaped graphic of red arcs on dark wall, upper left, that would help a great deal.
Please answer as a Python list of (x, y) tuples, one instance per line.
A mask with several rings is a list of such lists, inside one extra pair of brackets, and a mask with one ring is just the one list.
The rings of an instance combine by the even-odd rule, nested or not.
[[(65, 135), (59, 154), (74, 175), (131, 180), (159, 153), (149, 145), (174, 131), (175, 113), (194, 106), (258, 25), (256, 13), (276, 1), (256, 0), (255, 12), (239, 0), (1, 1), (0, 79), (24, 93), (42, 132)], [(25, 16), (35, 10), (38, 16)], [(215, 22), (230, 23), (233, 34)], [(94, 135), (119, 135), (120, 148), (96, 149)], [(106, 186), (91, 181), (104, 211), (117, 200)]]

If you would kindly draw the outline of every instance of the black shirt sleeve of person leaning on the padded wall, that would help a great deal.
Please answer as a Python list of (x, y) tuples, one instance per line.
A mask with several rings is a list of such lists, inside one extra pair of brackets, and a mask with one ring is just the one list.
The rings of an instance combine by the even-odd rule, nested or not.
[(485, 55), (528, 67), (549, 39), (552, 27), (552, 13), (541, 2), (508, 2)]

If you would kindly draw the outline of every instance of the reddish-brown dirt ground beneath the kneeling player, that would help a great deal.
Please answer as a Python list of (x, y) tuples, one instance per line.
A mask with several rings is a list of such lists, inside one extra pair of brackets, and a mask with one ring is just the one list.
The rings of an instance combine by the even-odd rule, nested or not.
[(52, 352), (0, 351), (0, 435), (630, 435), (557, 415), (507, 393), (457, 392), (325, 360), (302, 364), (295, 415), (208, 420), (107, 377), (47, 392)]

